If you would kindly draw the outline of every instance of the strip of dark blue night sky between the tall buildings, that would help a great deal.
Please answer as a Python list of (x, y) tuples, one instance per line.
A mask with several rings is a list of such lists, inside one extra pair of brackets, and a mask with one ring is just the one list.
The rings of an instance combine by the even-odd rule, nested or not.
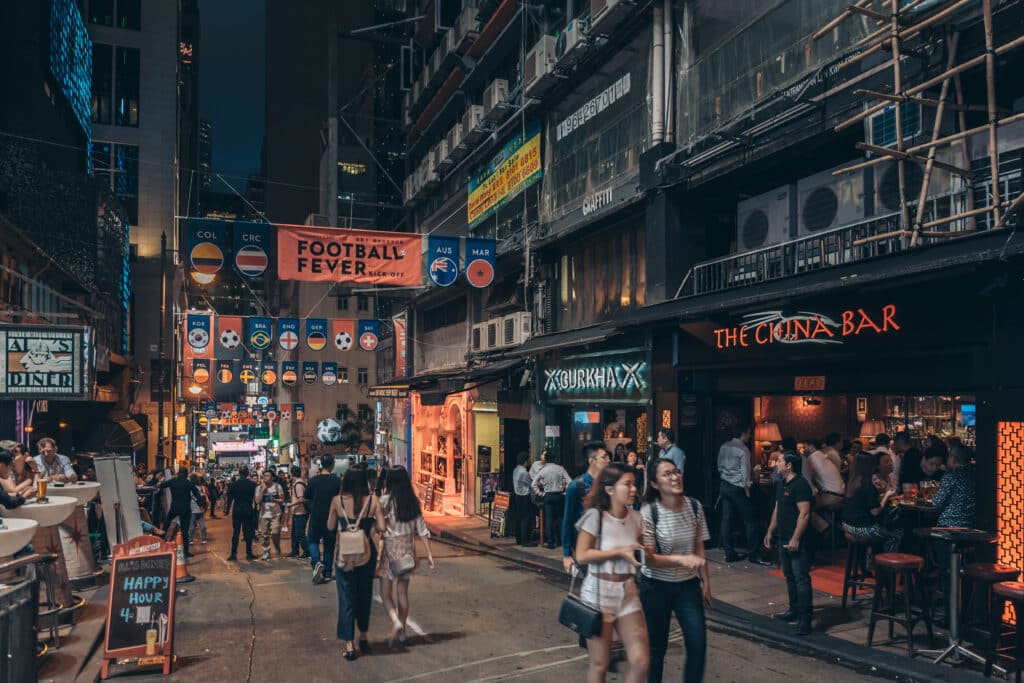
[[(260, 171), (266, 92), (265, 0), (200, 0), (200, 118), (213, 123), (213, 170), (240, 191)], [(214, 178), (214, 189), (230, 191)]]

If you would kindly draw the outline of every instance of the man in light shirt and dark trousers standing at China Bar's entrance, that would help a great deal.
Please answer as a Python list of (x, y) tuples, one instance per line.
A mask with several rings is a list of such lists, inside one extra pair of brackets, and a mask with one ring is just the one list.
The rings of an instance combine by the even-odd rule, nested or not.
[(751, 451), (746, 447), (750, 437), (750, 427), (739, 427), (718, 451), (718, 473), (722, 478), (718, 489), (722, 501), (722, 550), (725, 551), (726, 562), (742, 559), (732, 544), (732, 520), (739, 515), (746, 540), (746, 559), (754, 564), (769, 565), (770, 562), (763, 560), (758, 552), (760, 539), (751, 504), (751, 486), (754, 483), (751, 478)]

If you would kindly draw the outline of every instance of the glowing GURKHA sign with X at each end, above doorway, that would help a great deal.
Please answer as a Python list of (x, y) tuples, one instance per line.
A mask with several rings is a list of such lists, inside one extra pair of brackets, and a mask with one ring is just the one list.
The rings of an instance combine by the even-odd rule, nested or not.
[(569, 356), (544, 369), (544, 392), (551, 399), (642, 402), (649, 386), (643, 349)]

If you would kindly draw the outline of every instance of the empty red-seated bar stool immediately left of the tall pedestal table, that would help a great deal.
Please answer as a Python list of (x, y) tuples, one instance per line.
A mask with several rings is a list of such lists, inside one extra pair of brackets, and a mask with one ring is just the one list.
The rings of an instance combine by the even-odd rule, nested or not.
[[(913, 628), (918, 622), (925, 622), (928, 639), (932, 640), (932, 612), (928, 602), (920, 596), (921, 570), (925, 566), (925, 558), (920, 555), (905, 553), (882, 553), (874, 556), (874, 571), (877, 574), (874, 600), (871, 602), (871, 617), (867, 624), (867, 646), (874, 639), (874, 625), (881, 618), (889, 622), (889, 640), (894, 641), (893, 629), (901, 624), (906, 630), (906, 649), (913, 656)], [(903, 585), (902, 614), (896, 606), (896, 580)], [(883, 594), (888, 593), (888, 604), (884, 604)], [(914, 594), (919, 594), (914, 600)], [(916, 604), (914, 604), (916, 602)]]

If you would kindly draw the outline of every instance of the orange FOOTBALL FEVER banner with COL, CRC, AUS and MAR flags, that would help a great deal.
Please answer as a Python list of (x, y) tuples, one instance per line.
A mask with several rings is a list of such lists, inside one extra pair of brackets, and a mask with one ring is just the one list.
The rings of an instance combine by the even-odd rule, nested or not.
[(498, 248), (492, 238), (216, 218), (189, 218), (185, 233), (189, 273), (202, 285), (212, 283), (230, 261), (248, 279), (264, 276), (276, 263), (280, 280), (418, 287), (424, 284), (425, 261), (429, 281), (438, 287), (451, 287), (460, 273), (476, 288), (495, 281)]

